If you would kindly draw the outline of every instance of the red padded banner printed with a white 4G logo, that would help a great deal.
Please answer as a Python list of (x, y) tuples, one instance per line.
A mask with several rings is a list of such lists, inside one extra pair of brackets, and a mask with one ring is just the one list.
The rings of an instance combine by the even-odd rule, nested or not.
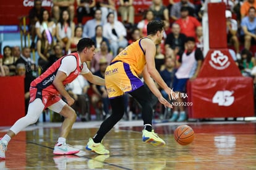
[(189, 81), (189, 117), (254, 116), (253, 82), (250, 77), (205, 77)]

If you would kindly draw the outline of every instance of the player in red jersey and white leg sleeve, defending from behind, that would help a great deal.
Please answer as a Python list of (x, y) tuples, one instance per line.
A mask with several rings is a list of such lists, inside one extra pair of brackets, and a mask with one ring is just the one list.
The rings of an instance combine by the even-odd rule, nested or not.
[[(78, 149), (66, 143), (66, 137), (76, 120), (76, 114), (70, 107), (74, 103), (74, 99), (65, 90), (65, 85), (72, 82), (79, 74), (82, 74), (91, 83), (105, 85), (105, 80), (93, 75), (85, 64), (85, 61), (91, 61), (94, 55), (95, 43), (89, 38), (82, 38), (77, 44), (77, 53), (61, 57), (30, 84), (30, 104), (27, 115), (15, 122), (7, 134), (1, 138), (0, 158), (6, 157), (7, 144), (11, 138), (28, 125), (35, 123), (45, 108), (65, 117), (53, 153), (55, 155), (71, 155), (79, 152)], [(59, 95), (66, 98), (67, 103)]]

